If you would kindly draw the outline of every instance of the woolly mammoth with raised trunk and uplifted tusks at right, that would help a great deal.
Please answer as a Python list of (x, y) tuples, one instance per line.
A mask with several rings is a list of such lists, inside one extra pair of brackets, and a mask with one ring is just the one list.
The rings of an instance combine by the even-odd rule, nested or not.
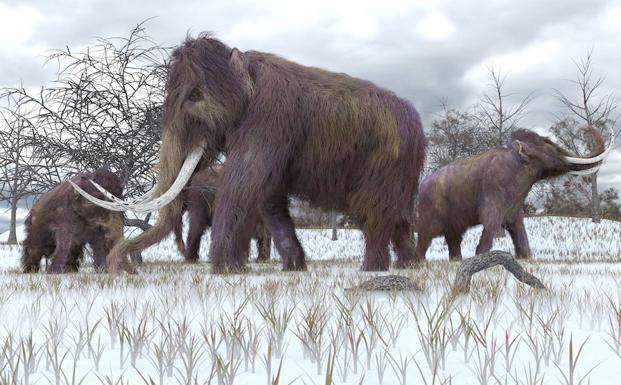
[[(608, 151), (592, 127), (594, 154), (578, 158), (548, 138), (517, 130), (507, 148), (484, 152), (448, 164), (425, 177), (418, 196), (416, 259), (423, 260), (434, 237), (444, 235), (450, 259), (461, 259), (462, 236), (482, 224), (476, 253), (491, 249), (494, 235), (504, 226), (518, 258), (530, 256), (524, 228), (523, 205), (532, 185), (566, 173), (586, 175), (597, 171)], [(612, 138), (614, 141), (614, 137)]]

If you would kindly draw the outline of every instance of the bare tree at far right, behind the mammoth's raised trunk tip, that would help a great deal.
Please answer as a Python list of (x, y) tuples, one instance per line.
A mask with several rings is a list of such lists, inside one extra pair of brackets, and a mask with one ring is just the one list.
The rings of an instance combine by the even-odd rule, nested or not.
[[(593, 126), (600, 131), (606, 128), (614, 129), (615, 120), (613, 113), (617, 110), (618, 100), (615, 94), (600, 95), (605, 77), (596, 76), (593, 73), (593, 52), (587, 52), (579, 62), (574, 60), (576, 66), (576, 78), (568, 80), (578, 90), (577, 97), (571, 98), (561, 91), (556, 90), (557, 99), (566, 107), (571, 115)], [(574, 133), (575, 135), (575, 133)], [(601, 221), (601, 209), (597, 187), (597, 173), (590, 177), (591, 183), (591, 218), (593, 222)]]

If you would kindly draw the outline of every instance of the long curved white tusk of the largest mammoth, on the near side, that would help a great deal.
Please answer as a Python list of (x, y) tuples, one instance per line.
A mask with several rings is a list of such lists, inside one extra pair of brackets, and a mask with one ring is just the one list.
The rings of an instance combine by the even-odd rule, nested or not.
[[(112, 211), (131, 210), (137, 213), (149, 213), (151, 211), (155, 211), (155, 210), (158, 210), (166, 206), (167, 204), (172, 202), (177, 197), (177, 195), (179, 195), (181, 190), (183, 190), (185, 185), (188, 183), (188, 181), (192, 177), (192, 173), (194, 172), (194, 169), (198, 165), (198, 162), (201, 160), (202, 156), (203, 156), (202, 147), (198, 147), (197, 149), (192, 151), (186, 157), (185, 161), (183, 162), (183, 166), (181, 167), (181, 170), (179, 170), (179, 175), (177, 175), (177, 179), (175, 179), (175, 182), (172, 184), (172, 186), (170, 186), (168, 191), (166, 191), (159, 198), (155, 198), (147, 202), (135, 203), (135, 201), (129, 201), (129, 202), (123, 201), (119, 198), (114, 197), (114, 195), (110, 194), (110, 192), (108, 192), (103, 187), (101, 186), (98, 187), (97, 184), (94, 184), (95, 187), (97, 187), (97, 189), (99, 189), (99, 191), (101, 191), (106, 197), (108, 198), (110, 198), (110, 196), (114, 197), (114, 198), (110, 198), (110, 199), (113, 199), (113, 202), (109, 202), (109, 201), (105, 201), (99, 198), (95, 198), (94, 196), (82, 190), (78, 185), (76, 185), (75, 183), (71, 181), (69, 181), (69, 183), (71, 183), (73, 188), (80, 195), (82, 195), (88, 201), (94, 203), (97, 206), (100, 206), (100, 207), (103, 207), (103, 208), (106, 208)], [(143, 195), (143, 197), (141, 198), (144, 198), (144, 196), (148, 195), (149, 193)]]

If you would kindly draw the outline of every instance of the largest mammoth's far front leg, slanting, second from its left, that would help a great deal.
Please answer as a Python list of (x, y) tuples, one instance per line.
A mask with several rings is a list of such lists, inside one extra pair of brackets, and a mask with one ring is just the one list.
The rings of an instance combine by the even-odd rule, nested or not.
[[(287, 271), (306, 270), (306, 257), (295, 234), (293, 220), (289, 215), (287, 196), (280, 194), (271, 197), (265, 202), (262, 210), (265, 223), (274, 238), (276, 249), (282, 257), (283, 269)], [(267, 239), (269, 240), (269, 235)], [(259, 246), (260, 251), (261, 246)], [(267, 258), (269, 258), (269, 251), (266, 254)]]

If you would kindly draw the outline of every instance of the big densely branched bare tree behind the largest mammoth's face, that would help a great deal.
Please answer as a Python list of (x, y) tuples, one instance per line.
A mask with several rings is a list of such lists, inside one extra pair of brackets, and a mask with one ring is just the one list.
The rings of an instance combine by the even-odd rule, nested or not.
[[(119, 173), (126, 196), (154, 184), (169, 50), (143, 24), (128, 37), (98, 38), (84, 51), (51, 52), (47, 62), (58, 66), (51, 87), (8, 90), (31, 107), (45, 148), (62, 159), (61, 178), (107, 165)], [(128, 223), (145, 228), (145, 219)]]

